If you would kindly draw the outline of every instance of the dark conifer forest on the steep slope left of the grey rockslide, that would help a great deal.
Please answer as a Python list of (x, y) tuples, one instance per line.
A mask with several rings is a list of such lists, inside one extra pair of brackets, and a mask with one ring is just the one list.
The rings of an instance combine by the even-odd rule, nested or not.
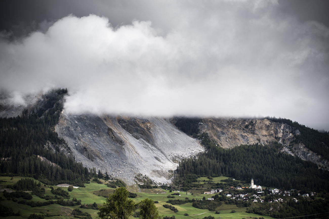
[(66, 94), (67, 89), (53, 90), (43, 95), (41, 106), (32, 112), (25, 109), (22, 116), (0, 118), (1, 175), (34, 177), (47, 185), (83, 186), (89, 182), (88, 169), (60, 151), (58, 145), (65, 141), (54, 131)]

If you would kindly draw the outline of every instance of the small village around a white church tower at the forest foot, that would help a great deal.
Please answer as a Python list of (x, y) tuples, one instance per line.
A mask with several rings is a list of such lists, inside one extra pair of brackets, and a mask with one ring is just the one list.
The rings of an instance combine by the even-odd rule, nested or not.
[[(266, 188), (266, 189), (262, 189), (262, 186), (257, 186), (254, 185), (254, 180), (251, 179), (251, 183), (250, 183), (250, 188), (248, 187), (241, 187), (241, 186), (230, 186), (230, 190), (233, 190), (232, 192), (227, 192), (227, 193), (223, 193), (223, 189), (221, 188), (216, 188), (216, 189), (211, 189), (210, 191), (205, 191), (203, 194), (216, 194), (219, 193), (219, 195), (225, 195), (227, 197), (227, 199), (236, 199), (238, 201), (242, 200), (245, 202), (284, 202), (285, 200), (283, 198), (271, 198), (271, 199), (267, 199), (265, 200), (266, 197), (268, 197), (268, 195), (270, 195), (271, 197), (273, 197), (273, 195), (282, 195), (282, 196), (302, 196), (302, 197), (309, 197), (309, 195), (311, 196), (315, 196), (316, 192), (311, 192), (311, 194), (309, 193), (304, 193), (304, 194), (300, 194), (300, 191), (297, 191), (295, 189), (290, 189), (290, 190), (283, 190), (283, 189), (271, 189), (271, 188)], [(239, 190), (244, 190), (244, 189), (253, 189), (252, 193), (248, 193), (248, 192), (242, 192), (240, 193)], [(256, 194), (255, 194), (256, 193)], [(263, 197), (263, 198), (262, 198)], [(277, 196), (275, 196), (277, 197)], [(214, 200), (214, 196), (212, 196), (211, 198), (208, 198), (208, 200)], [(293, 201), (298, 202), (298, 200), (296, 198), (292, 198)]]

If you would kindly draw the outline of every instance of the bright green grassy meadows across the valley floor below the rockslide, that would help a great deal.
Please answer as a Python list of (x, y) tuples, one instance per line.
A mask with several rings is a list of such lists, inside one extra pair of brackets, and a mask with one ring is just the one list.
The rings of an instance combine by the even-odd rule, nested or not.
[[(11, 177), (0, 177), (0, 180), (7, 181), (7, 182), (2, 182), (0, 184), (0, 188), (4, 188), (8, 184), (14, 184), (17, 182), (19, 179), (23, 177), (13, 177), (13, 180), (11, 180)], [(25, 177), (24, 177), (25, 178)], [(216, 178), (216, 179), (215, 179)], [(223, 177), (215, 177), (214, 179), (217, 181), (221, 179), (225, 179)], [(218, 178), (218, 179), (217, 179)], [(207, 178), (206, 178), (207, 179)], [(214, 180), (214, 181), (215, 181)], [(38, 181), (37, 181), (38, 182)], [(42, 185), (43, 186), (43, 185)], [(86, 187), (79, 187), (79, 188), (74, 188), (73, 191), (69, 192), (70, 194), (70, 199), (76, 198), (80, 199), (82, 204), (92, 204), (96, 202), (97, 204), (103, 204), (105, 202), (106, 198), (104, 196), (108, 196), (109, 194), (113, 194), (114, 189), (107, 187), (104, 184), (97, 184), (95, 182), (90, 182), (90, 184), (85, 184)], [(44, 186), (43, 186), (44, 187)], [(53, 186), (55, 189), (57, 186)], [(66, 190), (66, 187), (62, 187), (64, 190)], [(136, 186), (129, 186), (128, 189), (132, 192), (135, 192)], [(52, 195), (50, 192), (49, 186), (45, 187), (45, 195)], [(183, 205), (175, 205), (175, 208), (178, 209), (177, 213), (174, 213), (170, 209), (164, 208), (163, 205), (165, 202), (169, 199), (167, 198), (168, 194), (171, 194), (169, 191), (166, 190), (161, 190), (161, 189), (150, 189), (148, 192), (152, 193), (146, 193), (146, 192), (141, 192), (137, 193), (137, 197), (134, 198), (135, 202), (139, 202), (145, 198), (153, 199), (154, 201), (158, 201), (158, 204), (155, 204), (158, 207), (160, 215), (164, 216), (172, 216), (175, 215), (176, 218), (204, 218), (205, 216), (212, 215), (215, 218), (247, 218), (247, 217), (260, 217), (259, 215), (254, 215), (254, 214), (248, 214), (245, 212), (245, 208), (238, 208), (235, 205), (226, 205), (223, 204), (220, 206), (218, 209), (220, 211), (220, 215), (215, 214), (215, 212), (209, 212), (207, 209), (198, 209), (192, 207), (191, 203), (186, 203)], [(166, 192), (166, 193), (163, 193)], [(157, 194), (158, 193), (158, 194)], [(189, 199), (202, 199), (203, 196), (206, 198), (211, 197), (212, 195), (203, 195), (203, 194), (198, 194), (195, 193), (193, 195), (186, 195), (186, 193), (181, 192), (181, 196), (175, 196), (175, 199), (181, 199), (185, 200), (186, 197)], [(0, 196), (3, 196), (2, 193), (0, 193)], [(6, 198), (2, 197), (4, 200), (1, 201), (1, 204), (6, 206), (6, 207), (11, 207), (13, 208), (14, 212), (16, 213), (18, 210), (21, 212), (21, 216), (11, 216), (11, 217), (6, 217), (8, 219), (11, 218), (28, 218), (30, 214), (36, 213), (36, 214), (61, 214), (61, 216), (53, 216), (50, 218), (54, 219), (60, 219), (60, 218), (72, 218), (71, 212), (74, 208), (78, 208), (79, 206), (74, 206), (74, 207), (64, 207), (58, 204), (52, 204), (52, 205), (47, 205), (47, 206), (42, 206), (42, 207), (30, 207), (28, 205), (23, 205), (23, 204), (17, 204), (17, 202), (13, 202), (12, 200), (7, 200)], [(18, 198), (18, 200), (22, 200), (22, 198)], [(33, 195), (33, 201), (45, 201), (44, 199), (40, 199), (38, 196)], [(253, 205), (256, 203), (253, 203)], [(83, 212), (88, 212), (91, 214), (93, 218), (96, 218), (97, 216), (97, 210), (93, 209), (83, 209), (80, 208)], [(236, 212), (231, 213), (232, 209), (234, 209)], [(185, 213), (188, 213), (189, 216), (184, 216)], [(134, 217), (132, 217), (134, 218)], [(269, 218), (269, 217), (264, 217), (264, 218)]]

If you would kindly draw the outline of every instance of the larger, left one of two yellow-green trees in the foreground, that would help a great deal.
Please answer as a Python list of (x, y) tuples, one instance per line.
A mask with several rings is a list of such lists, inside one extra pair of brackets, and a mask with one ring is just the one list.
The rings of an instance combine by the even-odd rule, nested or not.
[(99, 207), (98, 218), (101, 219), (128, 219), (136, 209), (136, 202), (128, 198), (129, 191), (125, 187), (115, 189), (109, 195), (104, 205)]

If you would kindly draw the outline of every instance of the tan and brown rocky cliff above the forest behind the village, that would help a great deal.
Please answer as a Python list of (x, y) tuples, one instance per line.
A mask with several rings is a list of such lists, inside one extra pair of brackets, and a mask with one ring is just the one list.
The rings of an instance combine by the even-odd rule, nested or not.
[[(232, 148), (240, 144), (264, 145), (273, 141), (279, 142), (283, 144), (284, 152), (329, 169), (328, 159), (310, 150), (303, 142), (297, 141), (303, 139), (299, 129), (284, 122), (275, 122), (266, 118), (204, 118), (202, 123), (199, 123), (199, 129), (200, 133), (209, 133), (210, 138), (224, 148)], [(328, 150), (327, 145), (324, 147)]]

